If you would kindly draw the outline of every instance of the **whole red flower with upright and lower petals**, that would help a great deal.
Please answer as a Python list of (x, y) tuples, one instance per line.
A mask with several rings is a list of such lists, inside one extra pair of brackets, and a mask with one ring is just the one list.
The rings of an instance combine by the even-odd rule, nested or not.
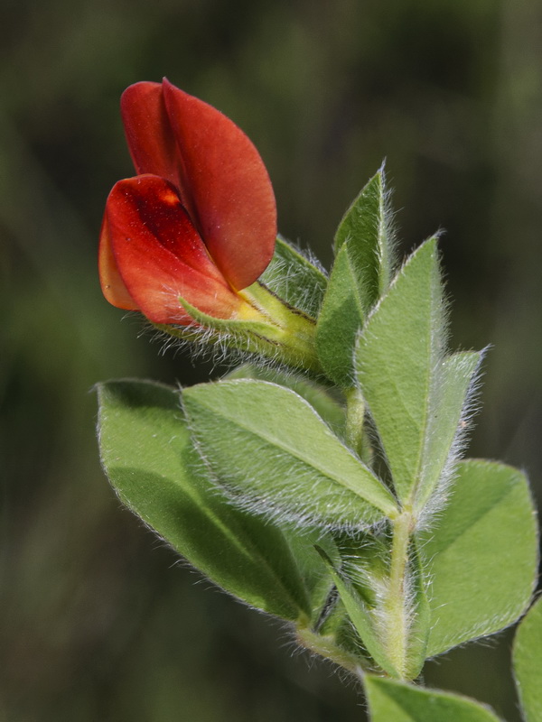
[(179, 298), (219, 319), (257, 311), (242, 289), (271, 260), (276, 203), (248, 137), (168, 80), (135, 83), (121, 100), (137, 175), (107, 199), (102, 291), (159, 324), (191, 322)]

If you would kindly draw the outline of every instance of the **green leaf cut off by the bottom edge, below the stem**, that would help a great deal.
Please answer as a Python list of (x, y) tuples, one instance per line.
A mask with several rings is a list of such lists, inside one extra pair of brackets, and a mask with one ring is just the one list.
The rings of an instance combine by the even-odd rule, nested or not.
[(492, 710), (467, 697), (425, 690), (366, 675), (371, 722), (499, 722)]

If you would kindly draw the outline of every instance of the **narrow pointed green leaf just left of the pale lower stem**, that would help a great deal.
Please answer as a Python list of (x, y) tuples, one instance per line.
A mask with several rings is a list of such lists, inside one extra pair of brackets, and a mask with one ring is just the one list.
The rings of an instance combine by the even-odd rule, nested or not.
[(397, 670), (388, 657), (386, 648), (378, 634), (378, 623), (374, 618), (369, 605), (358, 594), (356, 589), (347, 579), (343, 579), (341, 574), (334, 568), (332, 560), (320, 547), (317, 547), (318, 553), (322, 560), (328, 565), (333, 582), (337, 588), (351, 623), (356, 627), (356, 631), (360, 634), (360, 639), (370, 656), (375, 662), (388, 674), (397, 677)]

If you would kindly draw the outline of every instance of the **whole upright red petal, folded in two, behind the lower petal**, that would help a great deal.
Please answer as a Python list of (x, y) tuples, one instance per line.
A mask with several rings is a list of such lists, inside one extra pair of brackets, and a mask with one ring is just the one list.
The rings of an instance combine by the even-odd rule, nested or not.
[(136, 171), (173, 182), (232, 286), (242, 289), (256, 281), (273, 255), (276, 202), (247, 135), (166, 79), (162, 86), (144, 82), (127, 88), (121, 107)]

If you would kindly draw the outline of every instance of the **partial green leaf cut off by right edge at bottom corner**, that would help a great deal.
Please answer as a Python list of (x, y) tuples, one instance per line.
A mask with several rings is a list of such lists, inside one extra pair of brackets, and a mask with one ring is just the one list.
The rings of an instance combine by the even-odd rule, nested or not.
[(542, 599), (531, 606), (514, 641), (514, 672), (526, 722), (542, 719)]

